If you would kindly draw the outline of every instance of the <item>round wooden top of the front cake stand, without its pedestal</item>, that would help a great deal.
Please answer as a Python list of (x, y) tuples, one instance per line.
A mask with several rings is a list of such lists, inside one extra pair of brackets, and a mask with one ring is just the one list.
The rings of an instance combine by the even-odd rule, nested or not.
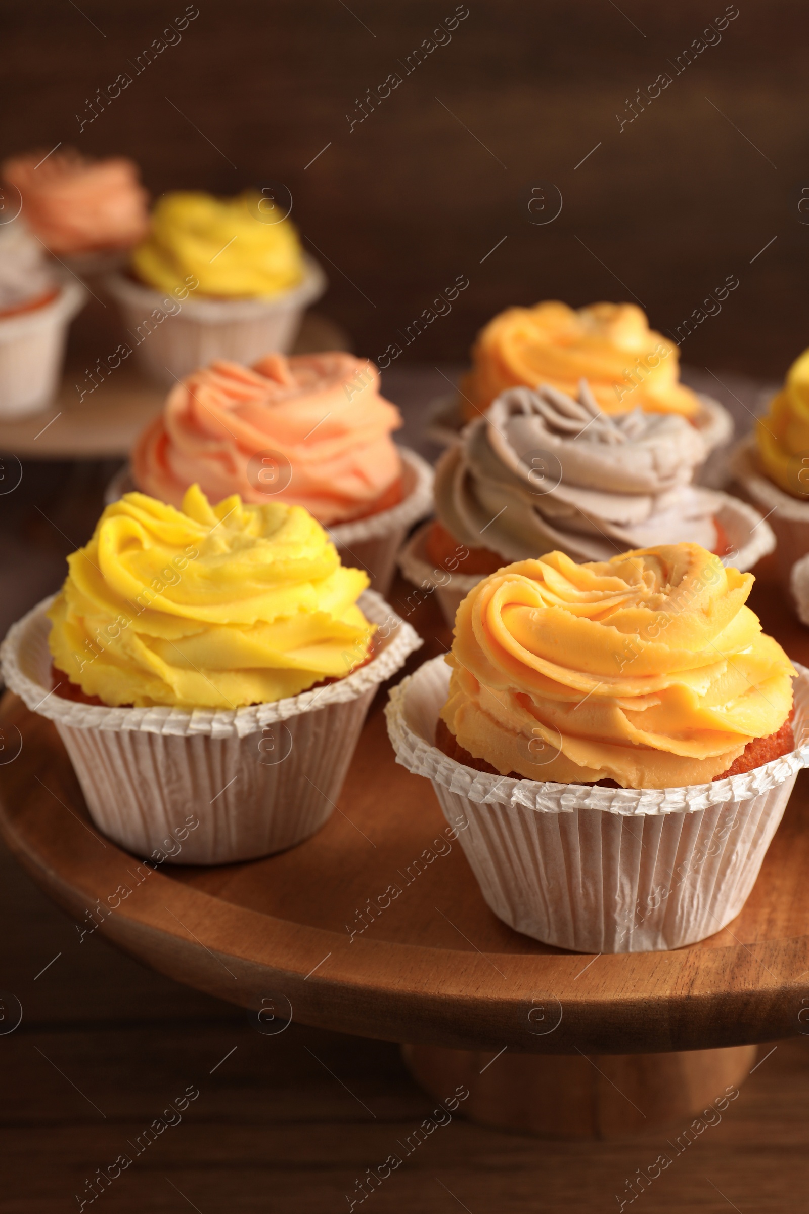
[[(775, 609), (767, 571), (757, 589)], [(392, 601), (405, 612), (406, 595), (394, 586)], [(432, 636), (411, 662), (440, 652), (449, 637), (434, 605), (411, 619)], [(23, 747), (0, 768), (0, 826), (35, 880), (79, 920), (120, 883), (132, 889), (97, 914), (98, 931), (121, 948), (244, 1006), (267, 997), (280, 1015), (291, 1004), (304, 1023), (553, 1054), (705, 1049), (801, 1033), (809, 998), (805, 775), (734, 923), (693, 948), (593, 960), (520, 936), (489, 910), (460, 847), (445, 846), (428, 783), (394, 762), (381, 707), (382, 696), (338, 812), (313, 839), (246, 864), (163, 866), (137, 884), (132, 857), (89, 824), (53, 727), (8, 697), (2, 720), (10, 733), (19, 728)], [(418, 870), (426, 849), (435, 858)], [(366, 900), (391, 884), (401, 895), (352, 938)], [(552, 1031), (536, 1033), (537, 1008), (546, 1025), (558, 1009)]]

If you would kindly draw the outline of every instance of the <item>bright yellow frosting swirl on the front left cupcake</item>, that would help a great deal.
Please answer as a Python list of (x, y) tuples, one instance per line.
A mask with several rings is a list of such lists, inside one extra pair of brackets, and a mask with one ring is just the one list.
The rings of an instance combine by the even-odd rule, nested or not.
[(340, 679), (369, 654), (368, 585), (302, 506), (107, 506), (50, 608), (53, 663), (110, 707), (239, 708)]

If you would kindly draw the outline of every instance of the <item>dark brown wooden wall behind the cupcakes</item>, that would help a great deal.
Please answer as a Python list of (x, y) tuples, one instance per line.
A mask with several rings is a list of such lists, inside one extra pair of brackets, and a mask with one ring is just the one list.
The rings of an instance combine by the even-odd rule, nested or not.
[[(405, 74), (455, 0), (198, 0), (182, 40), (135, 74), (184, 0), (6, 4), (2, 152), (59, 140), (125, 152), (154, 193), (284, 182), (324, 255), (324, 311), (372, 358), (457, 274), (469, 287), (406, 358), (461, 359), (494, 312), (546, 297), (638, 299), (674, 330), (736, 276), (683, 358), (780, 376), (809, 345), (805, 4), (739, 0), (679, 72), (734, 5), (460, 7), (451, 41), (439, 34), (445, 45)], [(132, 84), (79, 131), (86, 98), (123, 72)], [(394, 72), (401, 84), (349, 130), (357, 98)], [(661, 73), (671, 84), (621, 130), (616, 114), (631, 118), (627, 100), (649, 97)], [(563, 208), (537, 225), (557, 197), (529, 212), (543, 182)]]

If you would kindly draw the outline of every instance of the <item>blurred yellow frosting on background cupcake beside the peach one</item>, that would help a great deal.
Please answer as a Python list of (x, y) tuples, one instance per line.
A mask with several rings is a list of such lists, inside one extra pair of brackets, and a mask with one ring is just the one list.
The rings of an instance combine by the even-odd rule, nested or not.
[(303, 254), (289, 219), (264, 222), (266, 199), (255, 191), (215, 198), (201, 191), (164, 194), (149, 236), (132, 251), (139, 279), (163, 291), (188, 288), (230, 297), (278, 295), (303, 278)]

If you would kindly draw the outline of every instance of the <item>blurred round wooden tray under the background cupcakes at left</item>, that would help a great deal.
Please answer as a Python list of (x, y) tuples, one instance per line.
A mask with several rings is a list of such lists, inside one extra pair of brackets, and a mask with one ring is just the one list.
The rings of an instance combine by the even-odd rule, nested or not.
[[(348, 334), (332, 320), (308, 312), (292, 353), (351, 350)], [(92, 359), (89, 359), (92, 365)], [(163, 408), (166, 388), (138, 370), (120, 368), (79, 401), (76, 382), (87, 386), (84, 365), (65, 369), (52, 404), (19, 421), (0, 420), (0, 452), (18, 459), (125, 459), (137, 436)]]

